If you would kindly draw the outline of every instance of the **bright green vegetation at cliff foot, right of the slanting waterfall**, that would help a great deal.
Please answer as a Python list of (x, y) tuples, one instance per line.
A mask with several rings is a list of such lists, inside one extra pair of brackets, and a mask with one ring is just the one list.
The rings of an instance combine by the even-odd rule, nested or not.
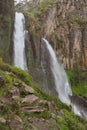
[(71, 88), (74, 95), (87, 97), (87, 72), (80, 68), (67, 71)]

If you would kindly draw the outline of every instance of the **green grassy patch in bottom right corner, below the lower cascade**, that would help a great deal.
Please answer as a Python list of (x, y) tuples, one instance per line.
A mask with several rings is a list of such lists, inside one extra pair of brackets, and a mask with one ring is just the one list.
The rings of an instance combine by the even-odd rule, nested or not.
[(63, 111), (64, 116), (62, 118), (57, 116), (56, 119), (60, 130), (86, 130), (87, 124), (85, 120), (65, 109)]

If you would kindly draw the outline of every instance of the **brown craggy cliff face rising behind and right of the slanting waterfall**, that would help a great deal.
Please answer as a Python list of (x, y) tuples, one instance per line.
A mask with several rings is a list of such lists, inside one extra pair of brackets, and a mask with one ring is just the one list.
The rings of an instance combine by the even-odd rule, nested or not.
[(45, 37), (65, 67), (87, 68), (87, 0), (37, 2), (24, 7), (37, 62), (41, 59), (41, 37)]

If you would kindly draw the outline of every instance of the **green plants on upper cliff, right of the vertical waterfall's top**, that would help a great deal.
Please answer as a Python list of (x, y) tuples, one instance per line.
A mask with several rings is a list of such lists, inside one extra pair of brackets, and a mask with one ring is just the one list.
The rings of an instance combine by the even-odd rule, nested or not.
[[(40, 4), (37, 5), (37, 8), (30, 8), (29, 11), (24, 11), (26, 17), (28, 18), (29, 24), (29, 32), (32, 36), (36, 37), (37, 33), (42, 30), (43, 25), (41, 20), (44, 17), (44, 13), (47, 12), (50, 8), (55, 5), (53, 0), (44, 0)], [(30, 25), (31, 22), (31, 25)]]

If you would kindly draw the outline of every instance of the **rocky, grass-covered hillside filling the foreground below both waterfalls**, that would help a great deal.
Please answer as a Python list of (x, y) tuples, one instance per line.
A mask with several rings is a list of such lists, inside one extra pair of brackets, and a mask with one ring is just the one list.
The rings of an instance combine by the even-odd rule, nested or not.
[(25, 71), (0, 63), (1, 130), (86, 130), (87, 121), (42, 92)]

